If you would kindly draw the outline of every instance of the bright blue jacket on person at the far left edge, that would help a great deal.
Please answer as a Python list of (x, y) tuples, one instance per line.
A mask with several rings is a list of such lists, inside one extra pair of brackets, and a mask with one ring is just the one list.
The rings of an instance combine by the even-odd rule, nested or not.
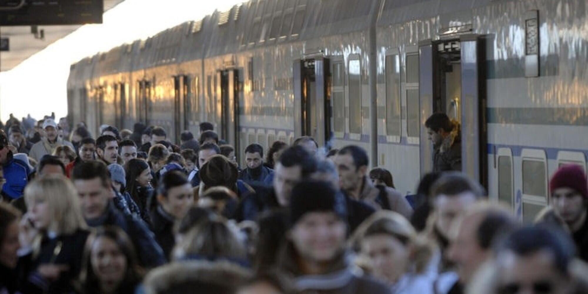
[(20, 198), (25, 192), (25, 186), (29, 182), (29, 174), (31, 170), (29, 166), (12, 156), (12, 152), (8, 152), (8, 161), (2, 166), (4, 178), (6, 183), (2, 186), (2, 195), (8, 198)]

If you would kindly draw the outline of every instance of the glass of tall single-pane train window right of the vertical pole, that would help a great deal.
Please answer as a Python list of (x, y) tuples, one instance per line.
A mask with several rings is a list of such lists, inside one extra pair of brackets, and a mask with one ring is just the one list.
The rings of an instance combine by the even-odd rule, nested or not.
[(400, 136), (400, 61), (386, 56), (386, 135)]

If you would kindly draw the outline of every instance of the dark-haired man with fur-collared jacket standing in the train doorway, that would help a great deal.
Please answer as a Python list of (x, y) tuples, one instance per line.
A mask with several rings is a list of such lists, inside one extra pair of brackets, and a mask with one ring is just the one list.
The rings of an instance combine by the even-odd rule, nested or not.
[(434, 113), (425, 122), (429, 140), (433, 143), (433, 171), (462, 170), (462, 137), (459, 123), (445, 113)]

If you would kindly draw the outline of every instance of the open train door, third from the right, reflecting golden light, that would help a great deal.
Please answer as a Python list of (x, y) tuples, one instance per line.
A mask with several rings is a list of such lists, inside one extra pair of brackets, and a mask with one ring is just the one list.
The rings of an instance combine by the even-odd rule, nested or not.
[[(239, 146), (239, 71), (218, 72), (220, 81), (220, 138), (240, 150)], [(235, 152), (238, 154), (239, 152)]]

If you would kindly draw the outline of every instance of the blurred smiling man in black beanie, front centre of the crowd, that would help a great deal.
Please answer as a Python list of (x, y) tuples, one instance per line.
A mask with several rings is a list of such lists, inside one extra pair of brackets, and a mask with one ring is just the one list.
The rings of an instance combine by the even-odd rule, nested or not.
[(289, 211), (289, 240), (278, 265), (293, 276), (299, 292), (391, 293), (386, 285), (353, 272), (346, 258), (345, 199), (329, 183), (298, 183)]

